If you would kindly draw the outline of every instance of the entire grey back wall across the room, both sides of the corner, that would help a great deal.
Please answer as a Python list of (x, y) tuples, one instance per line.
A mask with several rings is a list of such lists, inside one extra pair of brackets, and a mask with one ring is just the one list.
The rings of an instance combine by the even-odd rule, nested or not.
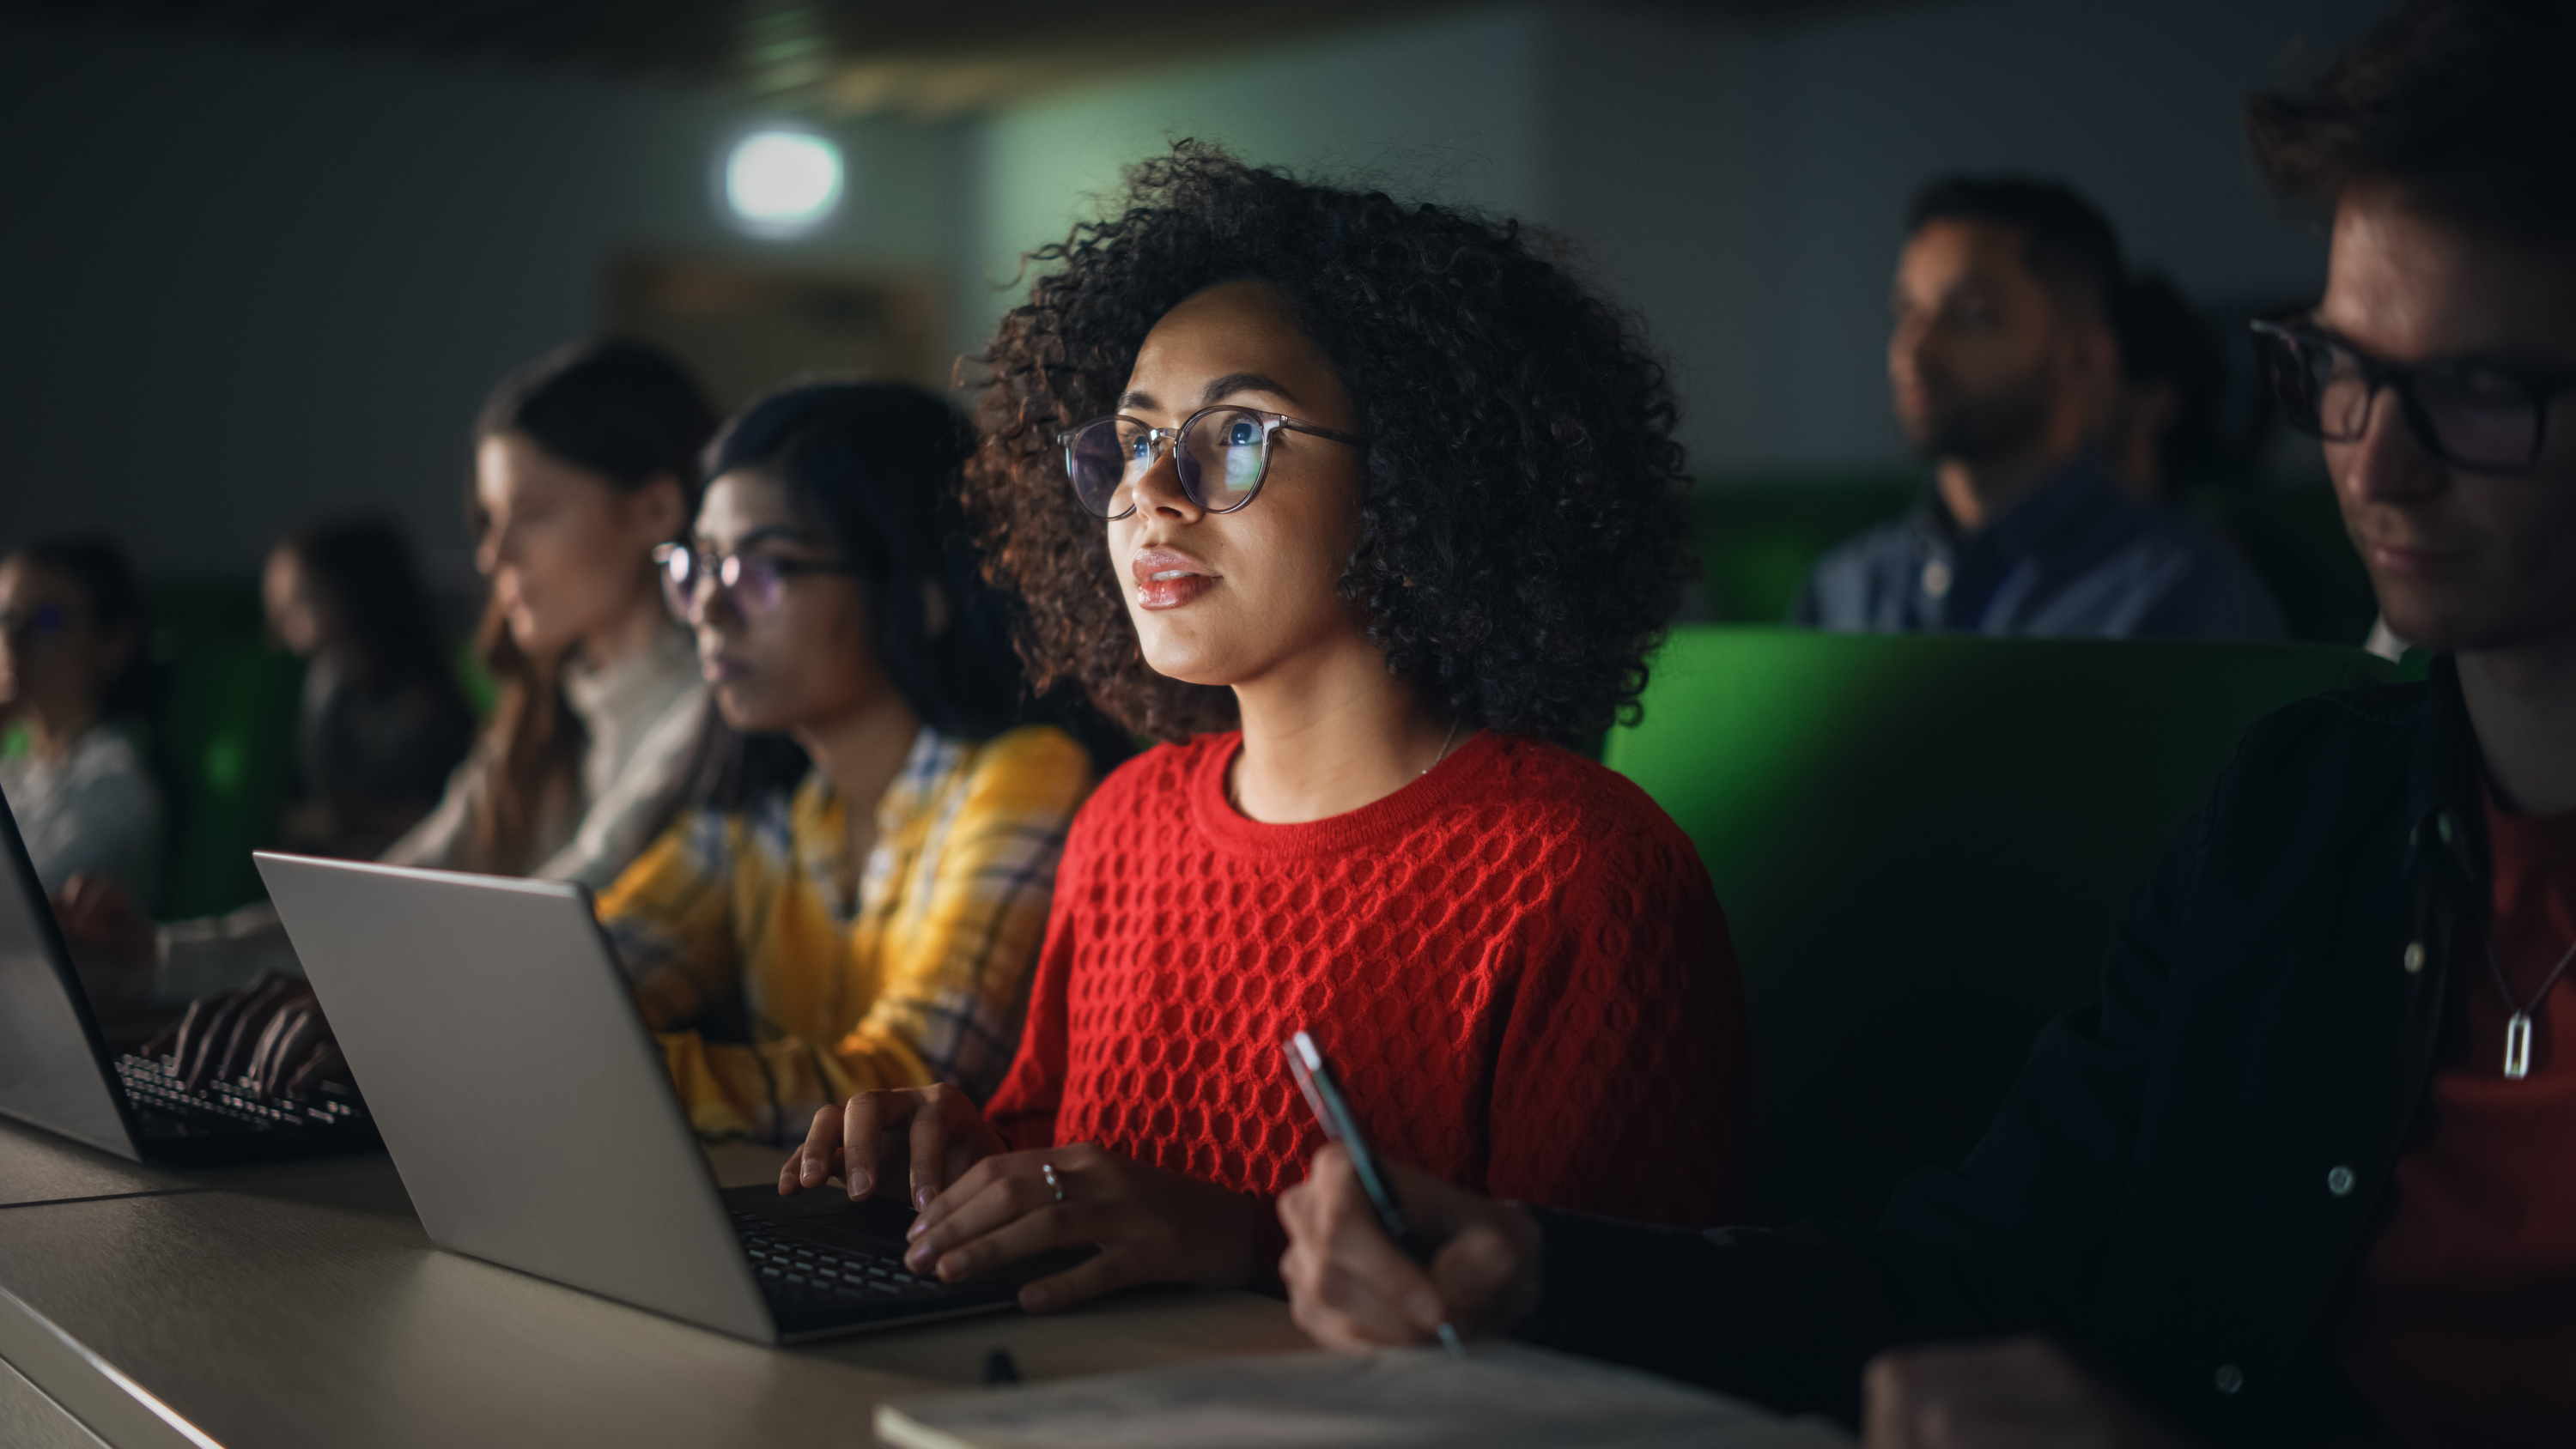
[(1015, 257), (1180, 134), (1571, 237), (1672, 358), (1703, 471), (1901, 466), (1880, 345), (1922, 178), (2063, 175), (2200, 296), (2295, 299), (2321, 245), (2254, 183), (2241, 103), (2383, 8), (1461, 10), (842, 126), (853, 206), (788, 247), (716, 224), (752, 116), (708, 95), (0, 21), (0, 543), (113, 525), (160, 574), (247, 571), (379, 504), (464, 584), (474, 404), (598, 324), (618, 252), (935, 265), (971, 350)]

